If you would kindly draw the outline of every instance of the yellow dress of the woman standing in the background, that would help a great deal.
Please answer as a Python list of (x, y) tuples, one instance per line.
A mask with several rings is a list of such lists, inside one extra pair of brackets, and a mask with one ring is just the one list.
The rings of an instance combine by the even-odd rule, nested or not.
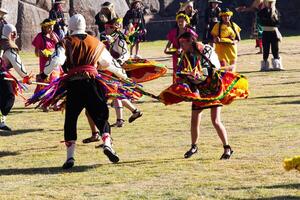
[[(213, 27), (211, 31), (213, 37), (219, 37), (219, 26), (220, 23), (217, 23)], [(241, 32), (241, 28), (236, 23), (233, 23), (233, 26), (235, 27), (237, 33)], [(221, 42), (216, 43), (215, 47), (215, 51), (221, 62), (223, 61), (231, 65), (237, 59), (237, 45), (233, 44), (235, 38), (236, 34), (234, 33), (231, 25), (222, 24), (220, 34)], [(230, 41), (232, 41), (232, 43), (230, 43)]]

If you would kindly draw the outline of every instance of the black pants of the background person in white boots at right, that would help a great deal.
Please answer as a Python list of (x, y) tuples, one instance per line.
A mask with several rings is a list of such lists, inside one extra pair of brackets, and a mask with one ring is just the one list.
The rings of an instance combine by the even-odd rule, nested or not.
[(263, 52), (264, 52), (264, 60), (269, 58), (270, 47), (272, 50), (272, 54), (274, 59), (279, 59), (279, 40), (277, 38), (275, 31), (264, 31), (263, 32)]

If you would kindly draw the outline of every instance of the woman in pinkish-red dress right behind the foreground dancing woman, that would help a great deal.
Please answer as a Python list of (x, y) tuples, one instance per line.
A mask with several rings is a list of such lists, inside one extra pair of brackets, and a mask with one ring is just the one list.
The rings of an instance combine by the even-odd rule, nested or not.
[(173, 83), (175, 83), (175, 81), (176, 81), (178, 56), (180, 54), (180, 46), (179, 46), (178, 37), (185, 32), (190, 32), (196, 38), (198, 37), (197, 33), (195, 33), (193, 31), (193, 29), (191, 29), (189, 27), (190, 18), (186, 14), (184, 14), (183, 12), (179, 12), (176, 15), (176, 22), (177, 22), (177, 27), (171, 29), (167, 35), (168, 43), (167, 43), (165, 51), (164, 51), (165, 53), (169, 53), (171, 46), (172, 46), (171, 49), (174, 49), (174, 51), (171, 52), (172, 57), (173, 57)]

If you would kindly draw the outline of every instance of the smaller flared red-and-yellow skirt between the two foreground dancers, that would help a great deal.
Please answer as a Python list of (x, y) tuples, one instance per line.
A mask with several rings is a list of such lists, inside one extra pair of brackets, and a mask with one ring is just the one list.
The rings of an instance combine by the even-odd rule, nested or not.
[(157, 79), (167, 72), (165, 65), (146, 59), (130, 59), (125, 62), (123, 68), (136, 83)]

